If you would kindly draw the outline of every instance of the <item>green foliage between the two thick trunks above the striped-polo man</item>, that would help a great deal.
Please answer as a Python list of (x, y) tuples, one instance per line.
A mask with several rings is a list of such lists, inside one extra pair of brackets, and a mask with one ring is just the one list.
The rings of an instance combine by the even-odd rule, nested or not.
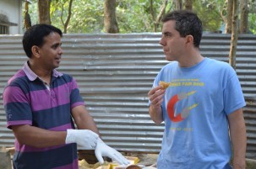
[[(57, 5), (57, 3), (59, 5)], [(63, 22), (68, 17), (69, 0), (52, 1), (52, 24), (63, 29)], [(63, 7), (63, 8), (62, 8)], [(63, 15), (62, 15), (62, 11)], [(104, 26), (104, 3), (95, 0), (74, 0), (72, 16), (68, 24), (68, 33), (102, 32)]]

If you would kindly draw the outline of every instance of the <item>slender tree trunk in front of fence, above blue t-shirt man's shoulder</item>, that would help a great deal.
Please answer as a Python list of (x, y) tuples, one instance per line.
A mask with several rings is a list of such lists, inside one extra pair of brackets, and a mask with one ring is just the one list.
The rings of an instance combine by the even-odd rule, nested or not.
[(232, 8), (232, 30), (231, 30), (231, 47), (229, 53), (229, 64), (236, 70), (236, 53), (238, 37), (238, 0), (233, 0)]

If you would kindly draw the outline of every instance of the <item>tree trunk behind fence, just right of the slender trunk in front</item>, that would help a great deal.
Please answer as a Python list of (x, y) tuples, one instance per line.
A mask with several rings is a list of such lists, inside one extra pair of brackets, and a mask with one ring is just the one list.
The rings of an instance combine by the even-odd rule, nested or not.
[(241, 34), (248, 34), (248, 0), (241, 0), (239, 26)]

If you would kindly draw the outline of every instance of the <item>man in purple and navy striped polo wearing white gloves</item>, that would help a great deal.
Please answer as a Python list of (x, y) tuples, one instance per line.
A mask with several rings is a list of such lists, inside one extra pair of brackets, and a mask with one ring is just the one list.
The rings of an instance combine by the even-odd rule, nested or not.
[(4, 89), (7, 126), (15, 135), (14, 169), (77, 169), (77, 145), (94, 149), (101, 163), (102, 156), (108, 156), (127, 165), (121, 153), (100, 139), (77, 82), (56, 70), (63, 54), (62, 36), (48, 24), (28, 29), (23, 47), (29, 61)]

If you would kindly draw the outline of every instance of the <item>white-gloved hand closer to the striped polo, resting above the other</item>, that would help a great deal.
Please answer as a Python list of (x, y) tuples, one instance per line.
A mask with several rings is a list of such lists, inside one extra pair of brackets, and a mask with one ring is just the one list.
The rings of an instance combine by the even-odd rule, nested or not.
[(89, 129), (67, 129), (66, 144), (76, 143), (80, 149), (95, 149), (99, 135)]

